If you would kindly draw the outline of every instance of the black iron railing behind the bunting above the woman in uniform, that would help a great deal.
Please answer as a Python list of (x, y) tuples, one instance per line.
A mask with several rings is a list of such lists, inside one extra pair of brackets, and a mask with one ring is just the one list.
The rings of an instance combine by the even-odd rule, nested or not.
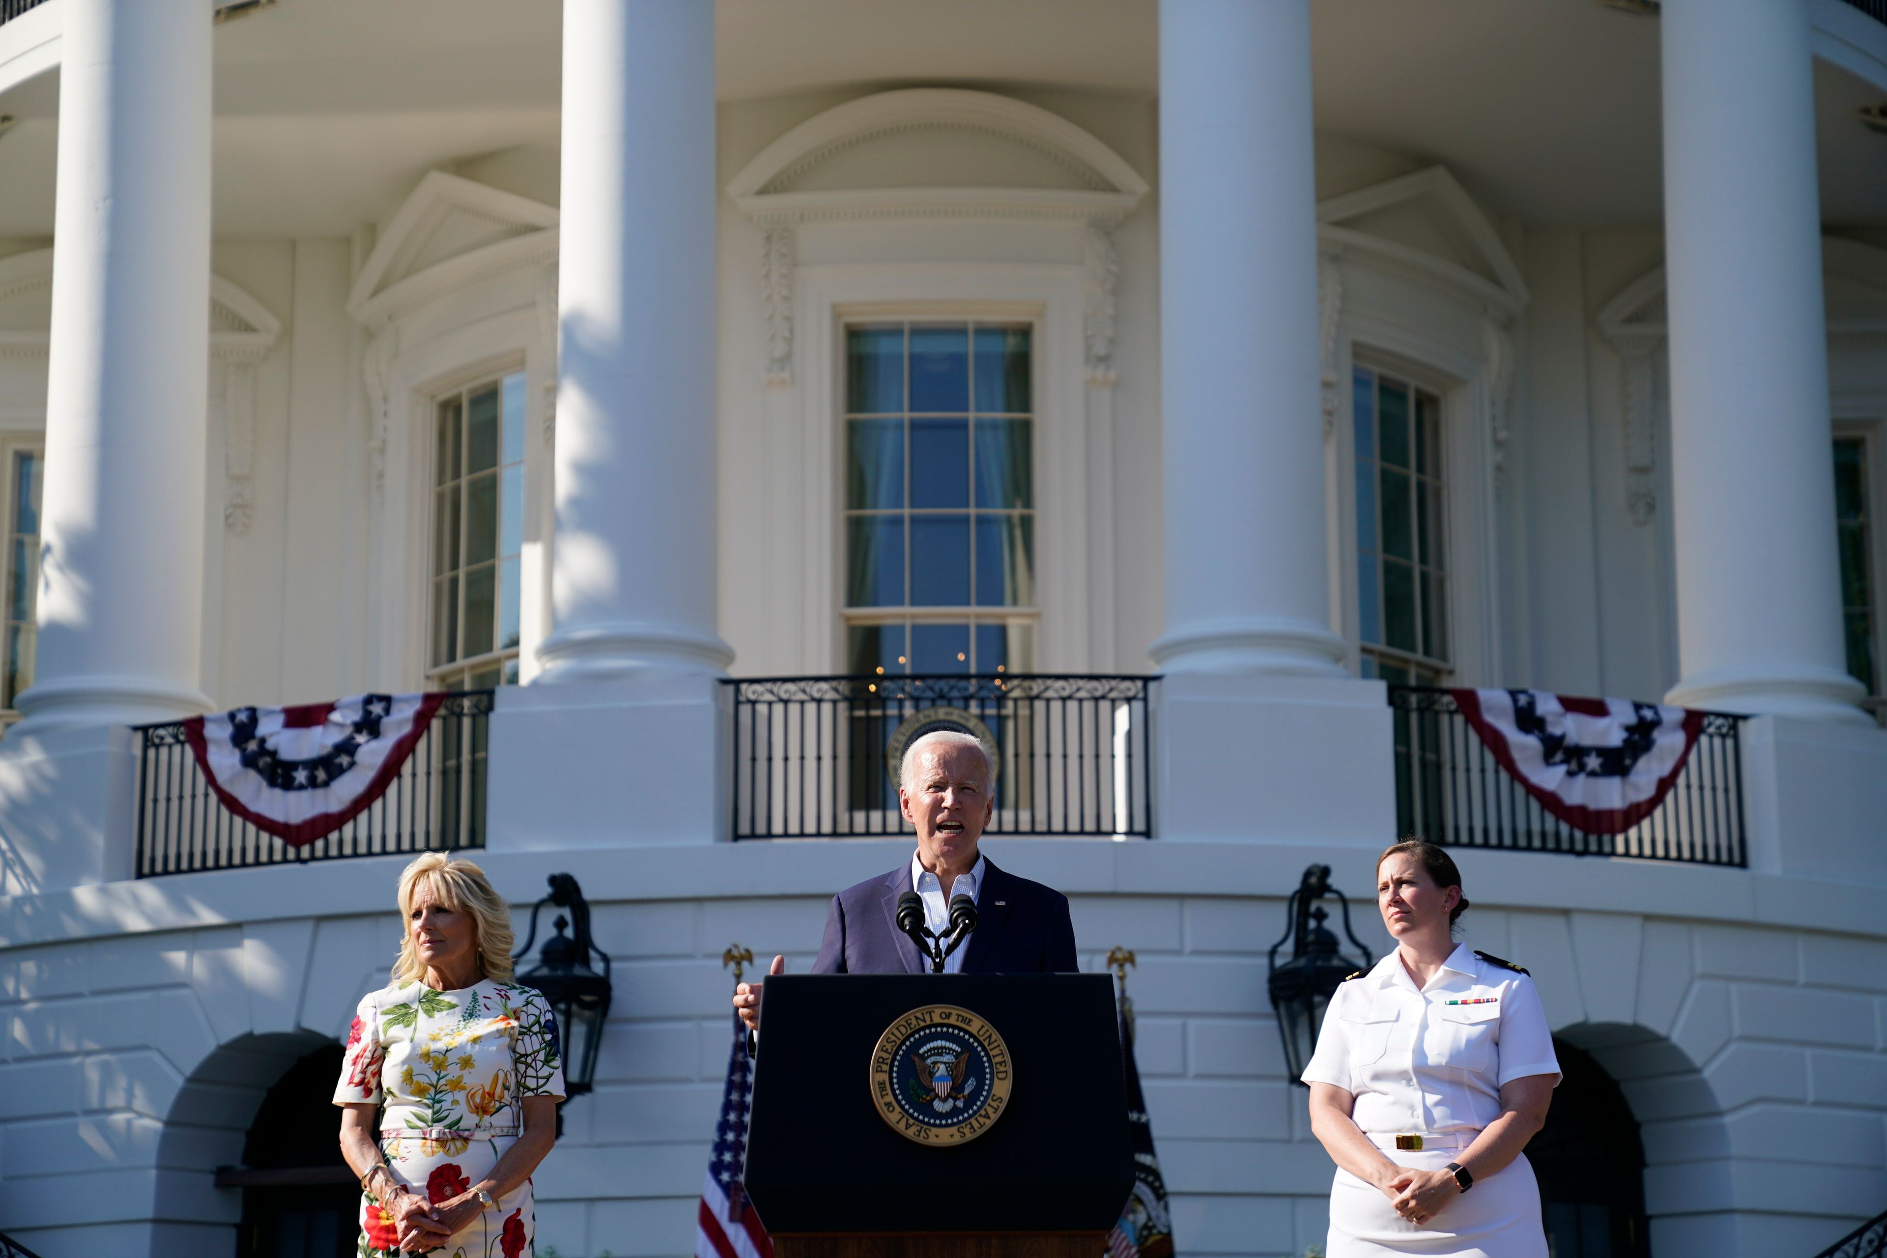
[(1449, 690), (1389, 687), (1394, 709), (1396, 832), (1445, 847), (1570, 856), (1747, 864), (1742, 717), (1706, 713), (1670, 794), (1623, 834), (1587, 834), (1547, 809), (1495, 760)]

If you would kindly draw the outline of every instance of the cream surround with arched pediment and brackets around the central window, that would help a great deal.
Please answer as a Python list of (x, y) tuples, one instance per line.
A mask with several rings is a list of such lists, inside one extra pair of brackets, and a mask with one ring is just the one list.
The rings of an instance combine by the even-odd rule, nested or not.
[[(879, 92), (794, 126), (726, 185), (759, 228), (770, 624), (760, 671), (843, 668), (840, 324), (1034, 328), (1038, 668), (1115, 668), (1111, 230), (1147, 192), (1100, 140), (1019, 100)], [(947, 226), (945, 226), (947, 224)]]

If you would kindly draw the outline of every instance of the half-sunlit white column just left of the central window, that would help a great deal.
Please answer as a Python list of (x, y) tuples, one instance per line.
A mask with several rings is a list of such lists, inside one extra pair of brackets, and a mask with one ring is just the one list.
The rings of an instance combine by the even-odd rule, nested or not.
[(700, 0), (566, 0), (555, 628), (538, 681), (711, 673), (715, 57)]

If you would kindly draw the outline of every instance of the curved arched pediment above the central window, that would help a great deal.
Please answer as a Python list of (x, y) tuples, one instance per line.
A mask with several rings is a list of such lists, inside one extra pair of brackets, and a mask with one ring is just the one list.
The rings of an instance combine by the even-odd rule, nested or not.
[(1147, 181), (1068, 119), (996, 92), (877, 92), (800, 123), (726, 185), (757, 219), (1119, 219)]

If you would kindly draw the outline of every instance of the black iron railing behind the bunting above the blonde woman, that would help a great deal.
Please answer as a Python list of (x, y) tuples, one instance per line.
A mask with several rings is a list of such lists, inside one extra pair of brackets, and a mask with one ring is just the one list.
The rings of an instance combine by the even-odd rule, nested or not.
[(485, 847), (491, 690), (445, 696), (387, 790), (343, 826), (289, 847), (223, 805), (183, 722), (138, 728), (138, 877)]

